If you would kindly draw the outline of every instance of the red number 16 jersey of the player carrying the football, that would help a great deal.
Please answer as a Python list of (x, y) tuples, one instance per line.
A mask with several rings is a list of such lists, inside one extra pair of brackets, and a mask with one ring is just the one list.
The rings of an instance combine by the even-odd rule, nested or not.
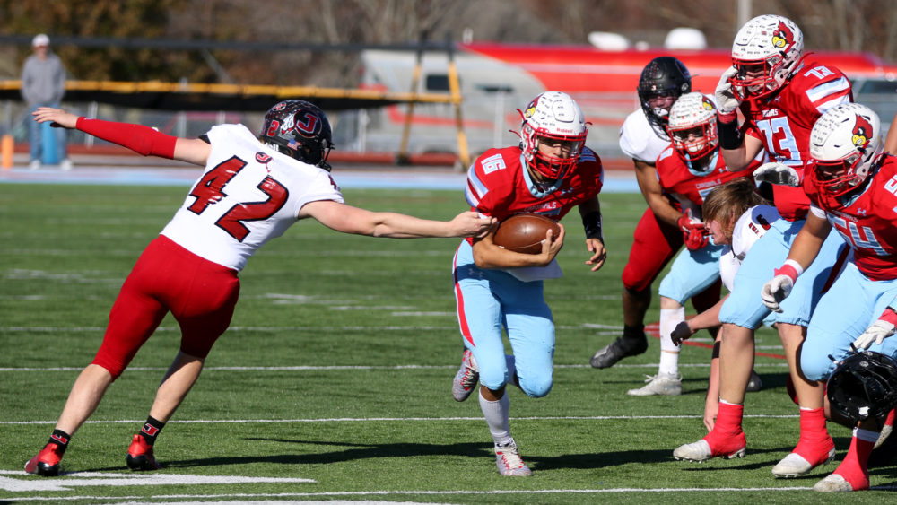
[(471, 210), (499, 221), (516, 213), (540, 213), (559, 222), (571, 208), (596, 196), (605, 180), (601, 160), (588, 147), (570, 176), (544, 191), (532, 186), (525, 167), (519, 147), (483, 152), (467, 170), (465, 197)]

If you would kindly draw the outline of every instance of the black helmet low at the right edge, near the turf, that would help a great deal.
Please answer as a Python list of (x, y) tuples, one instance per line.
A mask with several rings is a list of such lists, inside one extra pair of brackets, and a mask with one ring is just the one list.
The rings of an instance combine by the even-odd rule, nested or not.
[(897, 405), (897, 361), (858, 351), (840, 361), (826, 384), (832, 411), (853, 421), (882, 417)]

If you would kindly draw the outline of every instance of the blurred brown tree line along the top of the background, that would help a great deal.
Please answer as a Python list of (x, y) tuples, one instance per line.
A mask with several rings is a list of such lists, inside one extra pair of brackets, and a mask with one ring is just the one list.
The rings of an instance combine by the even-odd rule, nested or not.
[[(614, 31), (660, 46), (666, 32), (691, 27), (711, 48), (729, 48), (737, 0), (0, 0), (0, 35), (307, 42), (406, 43), (431, 39), (585, 44)], [(779, 13), (813, 49), (897, 56), (895, 0), (753, 0), (751, 15)], [(52, 45), (52, 44), (51, 44)], [(310, 50), (161, 50), (57, 45), (79, 80), (353, 87), (358, 55)], [(9, 49), (8, 49), (9, 50)], [(12, 49), (18, 74), (30, 48)], [(4, 53), (8, 54), (8, 53)]]

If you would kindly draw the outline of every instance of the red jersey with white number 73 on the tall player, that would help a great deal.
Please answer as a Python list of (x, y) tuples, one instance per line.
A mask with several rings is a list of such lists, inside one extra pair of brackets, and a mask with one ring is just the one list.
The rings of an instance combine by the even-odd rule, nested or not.
[[(810, 130), (828, 109), (853, 101), (848, 78), (837, 68), (806, 63), (771, 100), (745, 102), (746, 133), (760, 139), (771, 161), (803, 177), (810, 158)], [(788, 221), (803, 219), (809, 200), (800, 187), (773, 185), (776, 208)]]

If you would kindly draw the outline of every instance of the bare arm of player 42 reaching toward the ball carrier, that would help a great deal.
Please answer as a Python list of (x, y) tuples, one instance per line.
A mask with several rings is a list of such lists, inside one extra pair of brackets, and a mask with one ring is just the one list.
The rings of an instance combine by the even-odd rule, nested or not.
[(459, 213), (451, 221), (431, 221), (403, 213), (372, 212), (333, 200), (309, 202), (302, 206), (299, 217), (314, 218), (335, 231), (392, 239), (477, 237), (496, 224), (494, 218), (475, 212)]

